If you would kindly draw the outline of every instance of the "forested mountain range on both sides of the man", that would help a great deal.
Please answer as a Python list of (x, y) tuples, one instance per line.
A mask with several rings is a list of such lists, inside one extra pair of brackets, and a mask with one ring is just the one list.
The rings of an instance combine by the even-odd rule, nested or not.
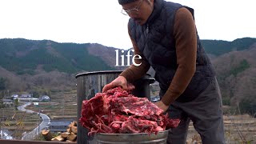
[[(224, 104), (240, 106), (242, 112), (256, 110), (256, 38), (202, 40), (202, 46), (214, 64)], [(76, 74), (124, 70), (128, 51), (97, 43), (0, 39), (0, 90), (75, 90)], [(149, 72), (154, 75), (154, 70)]]

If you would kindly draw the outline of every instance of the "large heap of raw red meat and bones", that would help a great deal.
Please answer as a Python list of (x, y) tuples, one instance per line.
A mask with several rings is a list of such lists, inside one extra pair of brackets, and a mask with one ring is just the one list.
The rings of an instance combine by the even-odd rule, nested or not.
[(179, 119), (167, 114), (147, 98), (138, 98), (121, 87), (98, 93), (82, 102), (82, 126), (96, 133), (129, 134), (158, 133), (178, 126)]

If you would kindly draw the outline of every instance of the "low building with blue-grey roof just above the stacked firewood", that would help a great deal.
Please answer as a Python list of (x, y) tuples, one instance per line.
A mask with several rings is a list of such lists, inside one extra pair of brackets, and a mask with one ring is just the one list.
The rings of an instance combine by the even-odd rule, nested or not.
[(49, 129), (52, 132), (65, 132), (72, 121), (50, 121)]

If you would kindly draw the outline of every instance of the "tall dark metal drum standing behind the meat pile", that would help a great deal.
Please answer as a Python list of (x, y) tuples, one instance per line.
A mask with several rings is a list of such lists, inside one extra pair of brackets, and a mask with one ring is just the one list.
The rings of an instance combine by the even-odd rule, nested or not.
[[(112, 82), (121, 70), (94, 71), (88, 73), (77, 74), (77, 101), (78, 101), (78, 119), (81, 117), (82, 101), (93, 98), (96, 93), (102, 92), (102, 88)], [(150, 78), (150, 74), (134, 82), (135, 90), (132, 94), (137, 97), (146, 97), (150, 100), (150, 83), (154, 82), (154, 78)], [(88, 130), (81, 126), (78, 122), (78, 144), (94, 144), (94, 138), (87, 135)]]

